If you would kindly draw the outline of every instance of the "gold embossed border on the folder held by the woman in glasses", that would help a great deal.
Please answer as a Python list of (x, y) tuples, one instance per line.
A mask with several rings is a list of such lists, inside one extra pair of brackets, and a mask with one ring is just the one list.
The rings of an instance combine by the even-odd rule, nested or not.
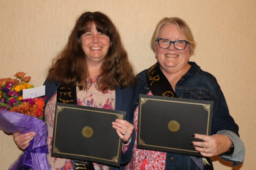
[[(146, 99), (146, 100), (145, 100)], [(145, 144), (144, 140), (140, 138), (140, 133), (141, 133), (141, 107), (142, 104), (144, 104), (147, 100), (158, 100), (158, 101), (168, 101), (168, 102), (175, 102), (175, 103), (186, 103), (186, 104), (197, 104), (197, 105), (202, 105), (206, 111), (208, 111), (208, 123), (207, 123), (207, 133), (208, 135), (208, 130), (209, 130), (209, 122), (210, 122), (210, 104), (202, 104), (202, 103), (191, 103), (191, 102), (183, 102), (183, 101), (171, 101), (171, 100), (161, 100), (161, 99), (151, 99), (151, 98), (141, 98), (141, 105), (140, 105), (140, 128), (139, 128), (139, 145), (145, 145), (145, 146), (152, 146), (152, 147), (157, 147), (157, 148), (166, 148), (166, 149), (174, 149), (174, 150), (181, 150), (181, 151), (189, 151), (189, 152), (198, 152), (198, 151), (191, 151), (191, 150), (185, 150), (185, 149), (177, 149), (177, 148), (169, 148), (169, 147), (162, 147), (162, 146), (154, 146), (154, 145), (147, 145)]]

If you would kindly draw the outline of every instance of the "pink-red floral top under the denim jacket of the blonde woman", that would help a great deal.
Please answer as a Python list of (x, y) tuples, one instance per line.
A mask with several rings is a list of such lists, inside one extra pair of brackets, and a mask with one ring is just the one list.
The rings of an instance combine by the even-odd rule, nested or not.
[[(152, 92), (148, 92), (147, 95), (153, 95)], [(136, 138), (134, 147), (132, 150), (131, 162), (125, 166), (126, 170), (140, 170), (143, 160), (146, 158), (146, 170), (162, 170), (165, 169), (166, 153), (154, 150), (138, 149), (137, 148), (137, 130), (138, 130), (138, 107), (134, 111), (134, 129), (136, 132)]]

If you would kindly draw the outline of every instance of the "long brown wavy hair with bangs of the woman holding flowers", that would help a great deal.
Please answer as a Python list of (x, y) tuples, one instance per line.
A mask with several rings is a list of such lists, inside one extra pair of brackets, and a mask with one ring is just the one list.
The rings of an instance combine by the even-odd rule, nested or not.
[(110, 47), (103, 59), (97, 85), (101, 91), (115, 90), (131, 86), (135, 75), (128, 60), (121, 37), (113, 22), (101, 12), (84, 12), (76, 22), (64, 49), (52, 61), (47, 79), (54, 79), (56, 85), (61, 82), (65, 87), (77, 85), (79, 90), (86, 90), (88, 70), (86, 55), (83, 52), (80, 37), (90, 31), (95, 24), (97, 31), (110, 38)]

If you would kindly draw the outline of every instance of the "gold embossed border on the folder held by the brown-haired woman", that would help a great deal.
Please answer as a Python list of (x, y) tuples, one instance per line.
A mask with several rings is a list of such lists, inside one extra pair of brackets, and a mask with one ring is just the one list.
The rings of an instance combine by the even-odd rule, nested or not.
[(124, 116), (123, 114), (116, 114), (116, 113), (111, 113), (111, 112), (103, 112), (103, 111), (97, 111), (97, 110), (73, 108), (73, 107), (66, 107), (66, 106), (57, 106), (56, 120), (55, 120), (55, 131), (54, 131), (54, 141), (53, 141), (53, 147), (54, 147), (53, 148), (54, 149), (53, 153), (59, 153), (59, 154), (65, 154), (65, 155), (83, 156), (83, 157), (87, 157), (87, 158), (94, 158), (94, 159), (100, 159), (100, 160), (104, 160), (104, 161), (110, 161), (110, 162), (118, 163), (118, 157), (119, 157), (119, 153), (120, 153), (121, 138), (119, 138), (117, 156), (113, 156), (113, 158), (111, 160), (103, 159), (103, 158), (97, 158), (97, 157), (93, 157), (93, 156), (77, 155), (77, 154), (71, 154), (71, 153), (62, 153), (62, 152), (59, 151), (59, 149), (57, 147), (55, 147), (58, 113), (60, 113), (64, 108), (67, 108), (67, 109), (77, 109), (77, 110), (86, 110), (86, 111), (99, 112), (99, 113), (107, 113), (107, 114), (115, 114), (118, 117), (118, 119), (122, 119), (122, 120), (123, 120), (123, 116)]

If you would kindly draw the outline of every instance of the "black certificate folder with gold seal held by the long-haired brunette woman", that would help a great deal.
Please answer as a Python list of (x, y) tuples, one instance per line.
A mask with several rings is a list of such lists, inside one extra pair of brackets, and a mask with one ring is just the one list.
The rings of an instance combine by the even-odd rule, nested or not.
[(120, 166), (123, 140), (112, 127), (126, 112), (56, 103), (51, 156)]

